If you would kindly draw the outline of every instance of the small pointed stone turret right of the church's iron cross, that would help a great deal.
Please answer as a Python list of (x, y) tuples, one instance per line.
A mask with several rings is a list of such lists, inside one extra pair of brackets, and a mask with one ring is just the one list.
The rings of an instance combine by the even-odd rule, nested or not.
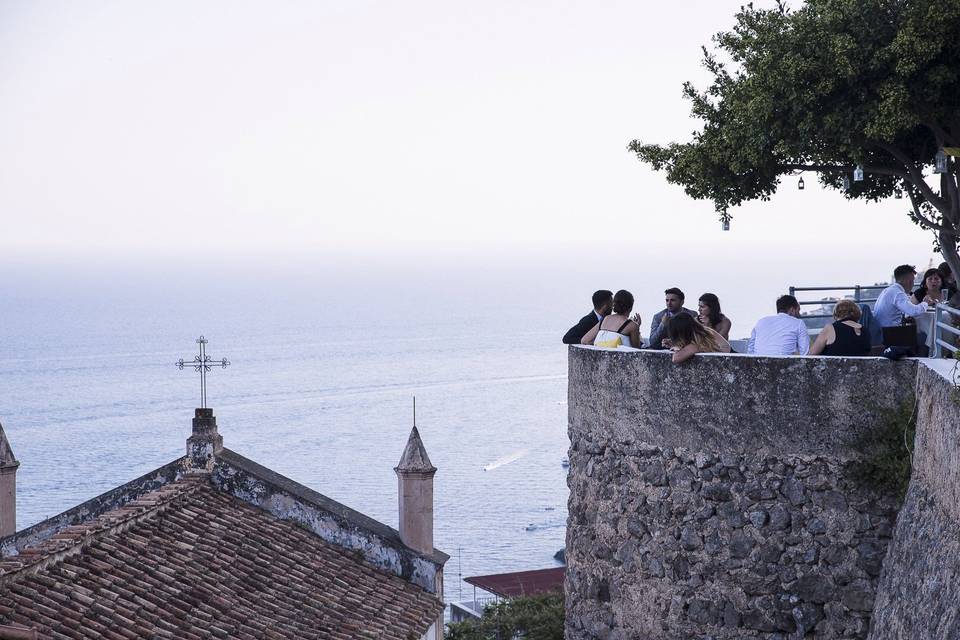
[(433, 553), (433, 476), (437, 468), (414, 427), (394, 467), (399, 482), (400, 539), (420, 553)]

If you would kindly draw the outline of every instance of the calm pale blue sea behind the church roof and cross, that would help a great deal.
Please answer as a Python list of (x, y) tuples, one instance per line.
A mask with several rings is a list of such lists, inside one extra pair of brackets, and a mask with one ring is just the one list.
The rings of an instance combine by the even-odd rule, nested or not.
[(0, 422), (21, 461), (18, 527), (183, 454), (199, 381), (173, 363), (205, 333), (210, 355), (232, 363), (209, 377), (225, 445), (391, 526), (416, 395), (439, 468), (448, 600), (459, 573), (556, 566), (568, 446), (559, 336), (582, 301), (524, 306), (528, 294), (514, 292), (515, 304), (503, 283), (331, 282), (0, 290)]

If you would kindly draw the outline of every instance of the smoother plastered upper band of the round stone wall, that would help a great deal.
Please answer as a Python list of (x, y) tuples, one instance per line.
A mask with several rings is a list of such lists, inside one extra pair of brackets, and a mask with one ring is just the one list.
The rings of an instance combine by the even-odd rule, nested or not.
[[(576, 347), (577, 345), (573, 345)], [(696, 450), (860, 457), (856, 442), (916, 389), (918, 359), (569, 350), (573, 446), (659, 443)], [(602, 425), (581, 433), (581, 425)]]

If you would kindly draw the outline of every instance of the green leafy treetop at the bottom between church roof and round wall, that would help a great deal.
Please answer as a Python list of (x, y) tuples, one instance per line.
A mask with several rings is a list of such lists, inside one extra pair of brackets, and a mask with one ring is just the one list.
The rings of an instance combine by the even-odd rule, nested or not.
[(563, 640), (563, 593), (521, 596), (490, 605), (480, 620), (447, 625), (446, 640)]

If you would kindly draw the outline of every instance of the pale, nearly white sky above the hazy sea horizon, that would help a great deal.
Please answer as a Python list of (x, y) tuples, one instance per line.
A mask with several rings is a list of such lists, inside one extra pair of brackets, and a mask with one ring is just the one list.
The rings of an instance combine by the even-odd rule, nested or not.
[(904, 201), (791, 178), (724, 233), (626, 151), (741, 4), (0, 0), (0, 254), (925, 259)]

